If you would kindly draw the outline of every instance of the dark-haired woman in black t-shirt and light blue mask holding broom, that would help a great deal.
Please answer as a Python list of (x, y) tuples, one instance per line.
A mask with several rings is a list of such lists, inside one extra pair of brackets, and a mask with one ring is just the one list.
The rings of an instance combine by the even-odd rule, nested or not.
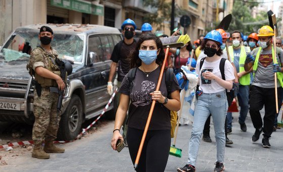
[(173, 75), (171, 93), (167, 93), (164, 72), (160, 91), (155, 91), (163, 60), (164, 51), (161, 40), (152, 33), (141, 35), (135, 51), (131, 55), (131, 68), (137, 68), (131, 82), (132, 87), (129, 83), (128, 73), (119, 90), (121, 97), (116, 112), (111, 146), (116, 150), (117, 140), (123, 140), (119, 132), (129, 106), (127, 143), (133, 163), (152, 101), (156, 101), (136, 171), (164, 171), (169, 156), (171, 144), (170, 110), (178, 111), (180, 109), (180, 88), (175, 75)]

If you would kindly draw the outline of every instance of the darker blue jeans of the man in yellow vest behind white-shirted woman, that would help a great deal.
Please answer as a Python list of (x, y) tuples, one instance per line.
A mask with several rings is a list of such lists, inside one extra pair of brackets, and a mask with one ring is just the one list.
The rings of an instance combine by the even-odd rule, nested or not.
[[(244, 123), (249, 112), (249, 85), (240, 85), (237, 94), (240, 109), (239, 122)], [(227, 112), (227, 128), (232, 128), (232, 113)]]

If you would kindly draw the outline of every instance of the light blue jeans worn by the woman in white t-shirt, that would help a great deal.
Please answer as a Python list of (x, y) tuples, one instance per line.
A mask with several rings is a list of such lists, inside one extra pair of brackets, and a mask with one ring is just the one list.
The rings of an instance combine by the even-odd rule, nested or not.
[(203, 93), (198, 98), (195, 108), (193, 130), (190, 143), (188, 145), (188, 164), (192, 164), (194, 166), (196, 164), (204, 124), (210, 113), (213, 118), (217, 161), (223, 162), (225, 152), (224, 122), (227, 109), (228, 102), (225, 91), (214, 94)]

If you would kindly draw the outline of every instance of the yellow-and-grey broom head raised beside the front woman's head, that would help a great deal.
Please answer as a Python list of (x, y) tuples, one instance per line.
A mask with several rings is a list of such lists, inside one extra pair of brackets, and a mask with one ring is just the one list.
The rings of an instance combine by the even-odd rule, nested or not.
[(169, 46), (170, 48), (177, 48), (187, 44), (187, 42), (190, 41), (191, 38), (190, 36), (185, 34), (185, 35), (161, 37), (160, 40), (164, 48), (166, 48), (167, 46)]

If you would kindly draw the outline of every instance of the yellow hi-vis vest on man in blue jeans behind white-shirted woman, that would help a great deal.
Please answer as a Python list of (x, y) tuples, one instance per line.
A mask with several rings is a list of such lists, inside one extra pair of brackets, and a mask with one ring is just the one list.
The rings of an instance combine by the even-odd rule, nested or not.
[[(229, 55), (231, 57), (231, 61), (234, 61), (234, 51), (233, 51), (233, 47), (229, 46), (228, 47), (229, 50)], [(241, 52), (240, 52), (240, 60), (239, 60), (239, 72), (244, 72), (245, 68), (245, 60), (246, 60), (247, 54), (246, 54), (246, 49), (244, 46), (241, 47)], [(239, 82), (241, 83), (241, 85), (249, 85), (251, 82), (251, 74), (248, 73), (246, 75), (243, 75), (240, 79)]]

